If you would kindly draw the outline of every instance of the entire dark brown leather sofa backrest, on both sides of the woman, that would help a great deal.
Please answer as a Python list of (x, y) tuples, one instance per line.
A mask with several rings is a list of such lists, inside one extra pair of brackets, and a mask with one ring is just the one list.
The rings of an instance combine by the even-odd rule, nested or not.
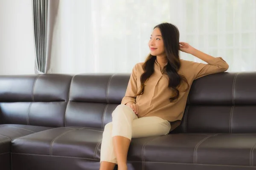
[[(130, 74), (0, 76), (0, 124), (98, 127), (125, 95)], [(174, 133), (256, 132), (256, 72), (193, 82)]]

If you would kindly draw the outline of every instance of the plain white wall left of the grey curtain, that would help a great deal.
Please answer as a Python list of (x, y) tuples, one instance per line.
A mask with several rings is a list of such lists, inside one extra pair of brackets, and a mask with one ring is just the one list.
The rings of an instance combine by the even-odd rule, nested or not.
[(31, 0), (0, 0), (0, 75), (34, 74)]

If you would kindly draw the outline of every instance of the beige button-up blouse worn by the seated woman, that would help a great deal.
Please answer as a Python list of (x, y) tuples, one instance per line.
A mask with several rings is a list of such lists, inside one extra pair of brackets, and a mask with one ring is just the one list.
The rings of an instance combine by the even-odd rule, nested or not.
[[(227, 71), (229, 65), (221, 57), (216, 57), (208, 62), (208, 64), (192, 62), (180, 59), (181, 66), (178, 74), (186, 77), (189, 83), (189, 90), (193, 80), (208, 74), (220, 73)], [(183, 92), (187, 88), (187, 84), (182, 82), (178, 90), (180, 96), (175, 102), (170, 102), (172, 90), (168, 87), (169, 81), (166, 74), (162, 74), (160, 65), (155, 61), (154, 74), (146, 81), (143, 95), (137, 96), (140, 91), (140, 76), (143, 74), (143, 62), (137, 63), (131, 73), (130, 80), (125, 96), (121, 104), (128, 102), (137, 103), (138, 117), (158, 116), (171, 122), (173, 130), (180, 125), (183, 113), (186, 107), (186, 100), (189, 90)]]

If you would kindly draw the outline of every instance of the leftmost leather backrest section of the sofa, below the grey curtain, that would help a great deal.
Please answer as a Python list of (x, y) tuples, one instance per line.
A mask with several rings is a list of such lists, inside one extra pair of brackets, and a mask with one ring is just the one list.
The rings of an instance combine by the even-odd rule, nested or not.
[(64, 126), (70, 75), (0, 76), (0, 123)]

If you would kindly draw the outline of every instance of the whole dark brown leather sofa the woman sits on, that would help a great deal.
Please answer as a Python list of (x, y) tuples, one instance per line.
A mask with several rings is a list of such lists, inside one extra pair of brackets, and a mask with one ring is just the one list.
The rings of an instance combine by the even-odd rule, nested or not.
[[(98, 170), (103, 128), (129, 76), (0, 76), (0, 170)], [(256, 169), (256, 72), (195, 80), (182, 124), (132, 139), (128, 168)]]

